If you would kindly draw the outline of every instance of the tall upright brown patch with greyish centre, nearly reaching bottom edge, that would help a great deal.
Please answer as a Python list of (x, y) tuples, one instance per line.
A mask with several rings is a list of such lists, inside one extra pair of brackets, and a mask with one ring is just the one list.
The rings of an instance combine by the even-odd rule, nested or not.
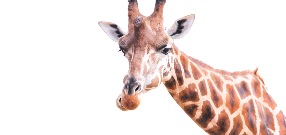
[(242, 115), (244, 116), (245, 125), (249, 128), (251, 132), (253, 132), (253, 134), (256, 134), (256, 115), (253, 100), (249, 100), (249, 102), (245, 103), (242, 106)]

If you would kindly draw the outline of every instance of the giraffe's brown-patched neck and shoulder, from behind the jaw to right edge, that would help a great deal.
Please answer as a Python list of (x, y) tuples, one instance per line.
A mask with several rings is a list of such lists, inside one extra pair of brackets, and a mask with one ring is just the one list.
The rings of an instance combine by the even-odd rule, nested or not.
[(285, 116), (257, 70), (215, 70), (173, 48), (163, 83), (208, 134), (286, 134)]

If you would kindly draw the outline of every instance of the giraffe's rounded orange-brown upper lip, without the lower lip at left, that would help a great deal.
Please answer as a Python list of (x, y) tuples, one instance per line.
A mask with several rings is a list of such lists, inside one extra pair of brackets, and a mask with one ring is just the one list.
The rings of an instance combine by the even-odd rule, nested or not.
[(136, 109), (141, 102), (142, 94), (122, 94), (121, 103), (124, 109), (126, 110), (134, 110)]

